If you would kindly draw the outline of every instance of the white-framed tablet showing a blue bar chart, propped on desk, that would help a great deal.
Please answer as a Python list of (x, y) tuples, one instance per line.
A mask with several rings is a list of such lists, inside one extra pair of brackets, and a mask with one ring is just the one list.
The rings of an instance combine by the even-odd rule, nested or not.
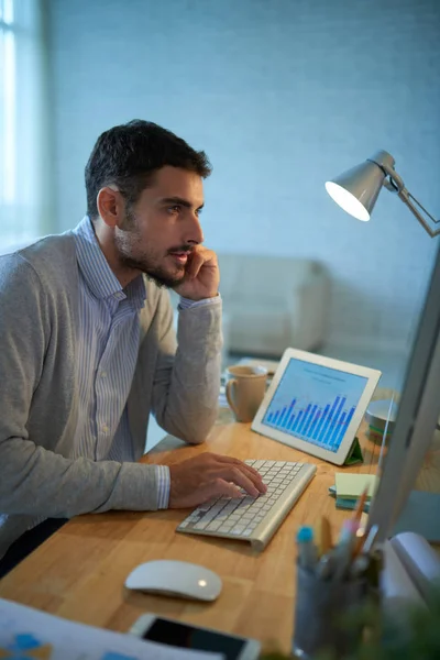
[(252, 430), (342, 465), (381, 375), (374, 369), (287, 349)]

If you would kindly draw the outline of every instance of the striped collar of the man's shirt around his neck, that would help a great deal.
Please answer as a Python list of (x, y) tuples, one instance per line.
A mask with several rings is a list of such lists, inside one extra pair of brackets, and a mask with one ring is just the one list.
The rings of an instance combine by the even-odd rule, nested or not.
[(143, 276), (140, 275), (133, 279), (124, 292), (102, 253), (88, 216), (85, 216), (74, 229), (74, 237), (79, 268), (94, 295), (102, 299), (112, 297), (123, 300), (129, 298), (133, 306), (140, 309), (146, 297)]

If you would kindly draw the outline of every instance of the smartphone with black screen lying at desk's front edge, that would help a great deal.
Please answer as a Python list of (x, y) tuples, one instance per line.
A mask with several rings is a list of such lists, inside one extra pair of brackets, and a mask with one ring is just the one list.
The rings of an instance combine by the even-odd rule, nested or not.
[(224, 660), (257, 660), (261, 651), (261, 645), (255, 639), (200, 628), (155, 614), (141, 616), (130, 634), (180, 649), (222, 653)]

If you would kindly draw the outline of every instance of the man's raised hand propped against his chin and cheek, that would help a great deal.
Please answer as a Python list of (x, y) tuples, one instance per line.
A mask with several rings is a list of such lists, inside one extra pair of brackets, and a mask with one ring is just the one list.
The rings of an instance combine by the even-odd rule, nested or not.
[(185, 279), (174, 290), (183, 298), (204, 300), (218, 296), (219, 282), (217, 254), (197, 245), (188, 256)]

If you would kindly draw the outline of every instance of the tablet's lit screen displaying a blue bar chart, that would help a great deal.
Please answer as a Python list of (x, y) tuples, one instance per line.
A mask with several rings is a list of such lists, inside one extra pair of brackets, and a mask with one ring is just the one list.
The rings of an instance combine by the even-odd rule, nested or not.
[(337, 452), (369, 378), (290, 359), (262, 424)]

